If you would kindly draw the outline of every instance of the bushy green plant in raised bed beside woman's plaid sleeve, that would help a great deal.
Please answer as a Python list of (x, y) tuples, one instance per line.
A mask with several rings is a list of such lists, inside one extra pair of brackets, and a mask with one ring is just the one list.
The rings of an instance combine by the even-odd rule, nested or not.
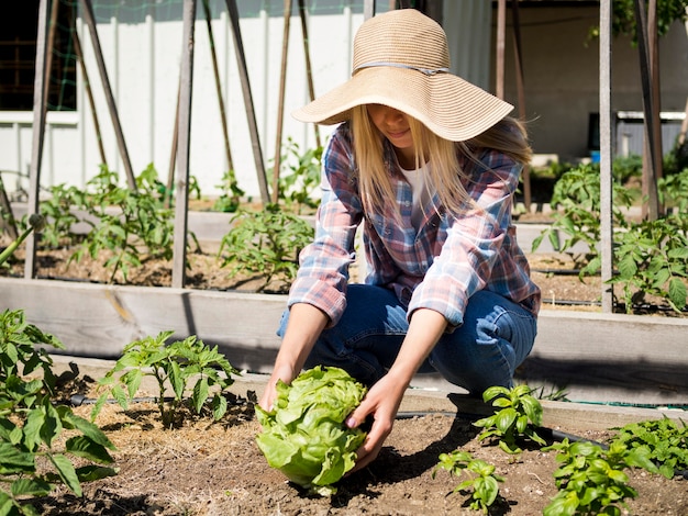
[(260, 212), (240, 210), (231, 223), (234, 226), (222, 237), (218, 251), (222, 267), (231, 267), (230, 276), (260, 274), (259, 291), (280, 274), (287, 283), (293, 281), (299, 251), (314, 234), (308, 222), (268, 205)]

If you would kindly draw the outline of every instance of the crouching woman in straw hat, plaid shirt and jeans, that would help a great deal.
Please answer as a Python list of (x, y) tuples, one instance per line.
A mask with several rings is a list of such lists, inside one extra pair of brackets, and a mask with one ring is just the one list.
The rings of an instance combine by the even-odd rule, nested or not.
[[(511, 222), (525, 133), (448, 67), (437, 23), (390, 11), (358, 30), (352, 78), (293, 113), (341, 125), (260, 405), (304, 367), (347, 370), (369, 390), (346, 424), (373, 416), (355, 469), (377, 457), (417, 372), (480, 395), (511, 384), (535, 339), (540, 289)], [(348, 284), (359, 224), (368, 273)]]

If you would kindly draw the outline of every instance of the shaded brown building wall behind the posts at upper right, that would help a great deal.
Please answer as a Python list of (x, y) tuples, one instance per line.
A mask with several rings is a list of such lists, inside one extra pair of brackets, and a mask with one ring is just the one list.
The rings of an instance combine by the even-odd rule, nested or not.
[[(599, 24), (599, 9), (525, 8), (519, 13), (533, 147), (565, 160), (588, 156), (589, 115), (599, 111), (599, 45), (588, 34)], [(504, 94), (517, 104), (510, 12), (508, 20)], [(659, 66), (662, 111), (684, 112), (688, 37), (680, 23), (659, 41)], [(612, 42), (612, 110), (643, 111), (639, 52), (628, 37)]]

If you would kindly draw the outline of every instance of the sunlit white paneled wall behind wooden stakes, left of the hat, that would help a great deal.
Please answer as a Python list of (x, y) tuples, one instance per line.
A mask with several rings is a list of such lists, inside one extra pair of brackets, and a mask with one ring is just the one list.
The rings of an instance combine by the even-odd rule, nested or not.
[[(127, 2), (138, 11), (118, 11), (119, 0), (98, 0), (98, 38), (112, 89), (134, 175), (153, 162), (163, 181), (167, 180), (173, 148), (176, 99), (181, 56), (181, 0), (173, 2)], [(146, 7), (146, 4), (148, 4)], [(281, 0), (238, 1), (240, 25), (252, 87), (255, 115), (266, 169), (276, 152), (277, 111), (284, 33)], [(302, 149), (314, 145), (314, 131), (295, 121), (290, 111), (308, 102), (307, 76), (298, 2), (293, 3), (289, 31), (289, 56), (282, 142), (297, 141)], [(345, 81), (351, 72), (354, 34), (363, 22), (363, 1), (330, 0), (309, 15), (311, 64), (315, 93)], [(379, 3), (379, 2), (378, 2)], [(176, 4), (176, 5), (175, 5)], [(171, 5), (171, 7), (170, 7)], [(98, 9), (100, 7), (101, 9)], [(142, 11), (143, 8), (143, 11)], [(229, 126), (232, 161), (240, 187), (259, 197), (257, 172), (235, 57), (226, 3), (211, 1), (212, 30), (223, 101)], [(112, 13), (116, 15), (103, 15)], [(320, 12), (320, 14), (319, 14)], [(379, 8), (378, 8), (379, 12)], [(108, 166), (125, 173), (102, 82), (95, 59), (89, 31), (78, 23), (85, 64), (96, 99)], [(32, 155), (31, 112), (0, 112), (0, 170), (8, 191), (15, 190), (15, 175), (26, 175)], [(66, 182), (84, 187), (101, 164), (97, 131), (88, 105), (84, 77), (78, 75), (77, 112), (49, 112), (44, 143), (41, 184)], [(321, 127), (324, 142), (331, 128)], [(195, 26), (193, 91), (191, 108), (190, 173), (204, 195), (217, 195), (215, 187), (228, 170), (225, 145), (213, 75), (210, 40), (198, 2)], [(270, 175), (268, 173), (268, 182)], [(27, 179), (22, 187), (27, 188)]]

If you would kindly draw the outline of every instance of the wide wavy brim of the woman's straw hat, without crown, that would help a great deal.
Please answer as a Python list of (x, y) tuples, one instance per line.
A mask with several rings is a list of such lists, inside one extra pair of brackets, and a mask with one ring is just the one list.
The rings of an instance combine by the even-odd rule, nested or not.
[(384, 104), (453, 142), (470, 139), (507, 116), (513, 106), (448, 72), (432, 76), (396, 67), (362, 69), (347, 82), (291, 114), (301, 122), (332, 125), (356, 105)]

